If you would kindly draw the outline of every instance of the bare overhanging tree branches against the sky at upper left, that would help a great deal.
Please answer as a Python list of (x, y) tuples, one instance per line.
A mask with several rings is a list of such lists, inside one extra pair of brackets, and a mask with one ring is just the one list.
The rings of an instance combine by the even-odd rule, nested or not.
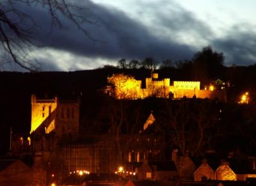
[[(35, 61), (31, 61), (31, 50), (35, 49), (36, 43), (31, 40), (35, 29), (40, 28), (38, 22), (34, 18), (20, 9), (20, 6), (42, 6), (51, 16), (52, 27), (62, 27), (61, 19), (70, 20), (74, 26), (84, 35), (93, 41), (83, 24), (92, 24), (93, 22), (86, 17), (77, 15), (76, 10), (81, 10), (81, 7), (74, 5), (74, 3), (67, 2), (66, 0), (9, 0), (0, 2), (0, 42), (1, 56), (0, 66), (6, 63), (15, 63), (22, 68), (35, 71), (39, 69)], [(14, 19), (15, 18), (15, 19)]]

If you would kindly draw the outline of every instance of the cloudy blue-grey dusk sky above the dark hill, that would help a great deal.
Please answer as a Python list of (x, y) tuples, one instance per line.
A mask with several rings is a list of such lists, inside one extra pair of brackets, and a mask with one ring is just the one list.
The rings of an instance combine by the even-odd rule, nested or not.
[[(64, 17), (60, 16), (62, 28), (52, 27), (49, 12), (40, 4), (16, 4), (38, 25), (31, 40), (43, 47), (34, 49), (30, 55), (37, 59), (42, 70), (86, 70), (116, 65), (122, 58), (191, 59), (207, 45), (224, 53), (226, 66), (256, 63), (256, 1), (74, 2), (84, 8), (74, 13), (93, 22), (83, 27), (97, 42)], [(0, 66), (0, 70), (24, 71), (13, 64)]]

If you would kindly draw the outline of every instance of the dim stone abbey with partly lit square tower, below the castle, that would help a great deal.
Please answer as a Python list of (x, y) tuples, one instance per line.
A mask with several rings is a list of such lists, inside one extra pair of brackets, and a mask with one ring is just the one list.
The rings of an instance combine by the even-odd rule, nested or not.
[(133, 164), (161, 158), (163, 136), (147, 133), (155, 121), (152, 114), (140, 134), (118, 137), (108, 133), (83, 134), (79, 131), (79, 109), (79, 98), (38, 99), (31, 95), (30, 134), (13, 137), (13, 153), (31, 155), (44, 169), (44, 180), (51, 180), (54, 175), (54, 182), (59, 184), (77, 171), (115, 173), (120, 164), (135, 171)]

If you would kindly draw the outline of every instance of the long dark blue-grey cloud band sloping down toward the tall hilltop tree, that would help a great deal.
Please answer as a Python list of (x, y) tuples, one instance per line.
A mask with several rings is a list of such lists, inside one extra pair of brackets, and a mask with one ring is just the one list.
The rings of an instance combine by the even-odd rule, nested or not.
[(85, 28), (90, 36), (100, 42), (93, 42), (84, 36), (67, 19), (61, 20), (65, 29), (54, 27), (51, 30), (49, 13), (38, 6), (26, 8), (26, 12), (33, 15), (40, 25), (33, 41), (37, 45), (51, 45), (52, 49), (65, 50), (88, 58), (143, 59), (154, 56), (159, 60), (185, 59), (191, 58), (194, 52), (188, 45), (153, 35), (147, 27), (130, 19), (120, 10), (99, 6), (90, 1), (86, 1), (85, 6), (88, 10), (77, 13), (83, 13), (84, 17), (95, 21), (95, 24), (86, 24)]

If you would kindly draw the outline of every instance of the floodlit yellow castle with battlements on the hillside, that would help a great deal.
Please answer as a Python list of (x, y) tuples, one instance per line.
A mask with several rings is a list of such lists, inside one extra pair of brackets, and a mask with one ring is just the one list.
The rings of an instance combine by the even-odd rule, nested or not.
[(141, 81), (134, 79), (129, 75), (114, 74), (108, 77), (108, 82), (111, 86), (106, 88), (109, 95), (118, 99), (138, 99), (147, 97), (158, 98), (218, 98), (226, 102), (225, 89), (214, 89), (213, 86), (209, 88), (200, 89), (199, 81), (173, 81), (170, 85), (170, 79), (158, 79), (158, 74), (152, 74), (151, 78), (146, 78), (145, 88), (141, 87)]

